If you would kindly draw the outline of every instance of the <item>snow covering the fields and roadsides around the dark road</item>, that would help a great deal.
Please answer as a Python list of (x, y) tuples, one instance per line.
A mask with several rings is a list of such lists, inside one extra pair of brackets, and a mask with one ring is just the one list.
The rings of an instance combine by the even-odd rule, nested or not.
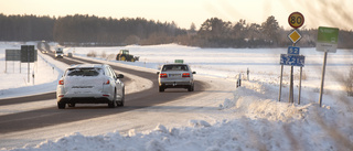
[[(20, 44), (23, 43), (1, 42), (0, 69), (6, 71), (4, 50), (19, 48)], [(130, 50), (130, 54), (140, 56), (140, 61), (114, 61), (115, 54), (121, 48)], [(64, 131), (66, 136), (40, 137), (43, 130), (57, 130), (57, 127), (18, 132), (18, 136), (38, 133), (40, 140), (44, 141), (34, 141), (33, 144), (28, 140), (23, 148), (0, 142), (1, 150), (353, 150), (353, 98), (346, 96), (343, 82), (352, 67), (352, 50), (329, 54), (322, 108), (318, 99), (323, 53), (315, 48), (301, 48), (301, 54), (306, 55), (306, 66), (300, 105), (288, 104), (288, 66), (285, 66), (284, 73), (282, 101), (278, 101), (279, 55), (287, 53), (286, 48), (199, 48), (168, 44), (68, 47), (65, 51), (73, 52), (75, 57), (96, 53), (95, 60), (137, 66), (135, 68), (153, 73), (164, 63), (184, 60), (197, 72), (195, 78), (207, 82), (212, 88), (194, 97), (133, 110), (133, 118), (125, 119), (119, 123), (120, 127), (105, 128), (105, 131), (92, 129), (92, 125), (83, 127), (94, 120), (90, 119), (57, 126), (81, 127), (81, 130), (69, 133), (64, 130), (57, 132)], [(21, 65), (20, 73), (19, 63), (8, 62), (7, 73), (0, 75), (1, 82), (6, 83), (0, 86), (0, 98), (53, 91), (57, 78), (67, 66), (45, 55), (41, 55), (38, 63), (32, 65), (35, 66), (31, 69), (31, 74), (35, 75), (34, 85), (33, 79), (25, 82), (26, 64)], [(245, 80), (247, 69), (250, 80)], [(296, 86), (299, 83), (298, 71), (295, 67)], [(239, 73), (243, 74), (243, 85), (235, 88), (235, 78)], [(139, 80), (149, 84), (148, 79)], [(141, 88), (132, 85), (129, 88), (131, 91)], [(297, 99), (298, 87), (295, 88)], [(39, 105), (55, 106), (55, 101)], [(19, 109), (18, 106), (1, 106), (0, 116), (28, 109)], [(165, 118), (158, 116), (161, 114)], [(95, 120), (99, 122), (107, 118), (110, 117)], [(141, 119), (150, 120), (139, 121)], [(140, 126), (135, 122), (145, 123)], [(0, 133), (0, 138), (8, 136)]]

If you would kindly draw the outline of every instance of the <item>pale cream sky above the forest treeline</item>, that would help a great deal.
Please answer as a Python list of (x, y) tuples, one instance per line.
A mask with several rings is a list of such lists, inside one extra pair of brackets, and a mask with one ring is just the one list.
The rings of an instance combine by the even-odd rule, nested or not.
[[(324, 3), (322, 1), (325, 1)], [(145, 18), (161, 22), (174, 21), (190, 29), (210, 18), (247, 23), (263, 23), (274, 15), (280, 26), (290, 29), (288, 17), (299, 11), (304, 15), (303, 28), (332, 26), (352, 30), (352, 0), (0, 0), (0, 13), (65, 17)]]

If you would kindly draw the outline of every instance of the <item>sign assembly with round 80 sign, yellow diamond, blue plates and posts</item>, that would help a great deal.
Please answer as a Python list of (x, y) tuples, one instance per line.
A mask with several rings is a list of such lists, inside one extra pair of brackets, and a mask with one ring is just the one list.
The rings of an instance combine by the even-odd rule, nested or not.
[(299, 42), (299, 40), (301, 39), (301, 35), (297, 29), (302, 26), (302, 24), (304, 23), (304, 17), (300, 12), (293, 12), (288, 17), (288, 23), (290, 26), (295, 29), (291, 33), (288, 34), (288, 39), (293, 43), (293, 45), (288, 47), (287, 54), (280, 55), (281, 72), (278, 100), (280, 101), (281, 98), (284, 65), (290, 66), (289, 103), (293, 103), (293, 66), (300, 66), (300, 83), (298, 98), (298, 104), (300, 104), (301, 75), (306, 57), (303, 55), (299, 55), (300, 47), (296, 47), (296, 43)]

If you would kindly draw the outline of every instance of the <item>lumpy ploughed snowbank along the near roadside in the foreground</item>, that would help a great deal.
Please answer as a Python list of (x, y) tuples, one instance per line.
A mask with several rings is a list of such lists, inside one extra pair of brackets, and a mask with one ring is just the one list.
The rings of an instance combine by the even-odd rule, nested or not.
[[(259, 82), (244, 82), (226, 99), (221, 112), (243, 114), (238, 119), (224, 119), (211, 125), (205, 120), (190, 120), (182, 128), (156, 129), (128, 134), (119, 131), (83, 136), (67, 134), (56, 141), (14, 151), (46, 150), (352, 150), (352, 110), (342, 106), (318, 108), (314, 103), (291, 105), (278, 103), (269, 91), (274, 86)], [(308, 101), (308, 100), (303, 100)]]

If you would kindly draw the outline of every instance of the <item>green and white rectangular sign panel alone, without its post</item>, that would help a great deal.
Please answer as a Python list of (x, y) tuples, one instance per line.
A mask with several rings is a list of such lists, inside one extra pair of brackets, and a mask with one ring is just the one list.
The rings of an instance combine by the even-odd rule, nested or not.
[(335, 53), (339, 43), (339, 29), (319, 26), (317, 51)]

